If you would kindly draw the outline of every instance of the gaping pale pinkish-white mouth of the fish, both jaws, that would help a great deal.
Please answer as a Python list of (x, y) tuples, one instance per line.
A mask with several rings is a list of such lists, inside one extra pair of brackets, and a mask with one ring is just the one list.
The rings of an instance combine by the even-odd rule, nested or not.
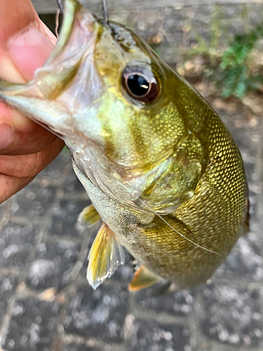
[(84, 122), (89, 108), (102, 96), (102, 79), (93, 60), (101, 25), (76, 0), (65, 1), (64, 14), (60, 37), (45, 65), (27, 84), (0, 79), (0, 98), (74, 145), (88, 135)]

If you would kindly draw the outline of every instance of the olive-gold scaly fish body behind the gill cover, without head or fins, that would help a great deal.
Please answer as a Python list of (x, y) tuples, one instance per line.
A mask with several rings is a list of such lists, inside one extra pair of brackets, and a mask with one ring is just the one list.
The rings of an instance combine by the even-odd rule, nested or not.
[[(196, 92), (189, 88), (190, 101), (191, 94), (194, 104)], [(105, 196), (79, 174), (102, 220), (118, 234), (121, 243), (149, 270), (175, 283), (177, 289), (200, 284), (213, 274), (245, 232), (248, 216), (241, 155), (221, 119), (203, 98), (198, 99), (199, 105), (203, 104), (202, 114), (196, 114), (196, 123), (188, 132), (198, 135), (203, 169), (194, 196), (162, 216), (170, 226), (150, 211), (137, 211)]]

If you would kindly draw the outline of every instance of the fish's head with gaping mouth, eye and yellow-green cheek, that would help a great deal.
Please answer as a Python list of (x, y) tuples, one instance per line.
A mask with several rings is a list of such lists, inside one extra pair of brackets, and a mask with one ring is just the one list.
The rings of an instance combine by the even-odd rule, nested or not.
[(46, 64), (25, 85), (2, 81), (0, 98), (65, 140), (93, 183), (134, 201), (187, 133), (185, 87), (134, 32), (66, 0)]

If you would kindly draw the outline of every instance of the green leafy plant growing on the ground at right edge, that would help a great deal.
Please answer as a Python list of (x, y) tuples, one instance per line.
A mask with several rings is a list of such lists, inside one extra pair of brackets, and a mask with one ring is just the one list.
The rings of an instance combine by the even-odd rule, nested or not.
[(263, 24), (247, 34), (237, 35), (222, 56), (218, 69), (218, 86), (222, 87), (224, 98), (234, 95), (243, 98), (245, 93), (256, 90), (262, 83), (261, 74), (253, 74), (250, 69), (251, 53), (259, 39), (263, 38)]

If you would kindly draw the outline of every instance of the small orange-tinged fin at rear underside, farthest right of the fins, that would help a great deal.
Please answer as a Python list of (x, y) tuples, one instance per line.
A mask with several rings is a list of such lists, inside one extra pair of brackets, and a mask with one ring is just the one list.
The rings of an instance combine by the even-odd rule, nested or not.
[(130, 291), (137, 291), (140, 289), (149, 288), (149, 286), (156, 284), (161, 280), (161, 277), (152, 273), (144, 265), (135, 272), (133, 280), (130, 282), (128, 289)]

